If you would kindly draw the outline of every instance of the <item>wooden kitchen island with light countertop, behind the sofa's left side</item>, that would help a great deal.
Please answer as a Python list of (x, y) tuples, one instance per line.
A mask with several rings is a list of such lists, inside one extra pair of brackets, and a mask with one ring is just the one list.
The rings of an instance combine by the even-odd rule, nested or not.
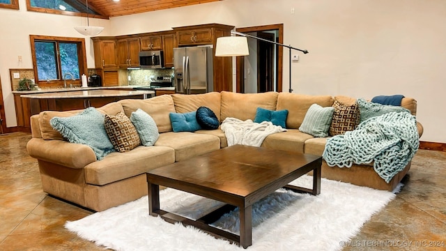
[(42, 111), (69, 111), (87, 107), (102, 107), (110, 102), (123, 99), (144, 99), (155, 94), (154, 91), (135, 91), (133, 89), (79, 88), (41, 91), (14, 91), (17, 127), (20, 131), (31, 132), (29, 118)]

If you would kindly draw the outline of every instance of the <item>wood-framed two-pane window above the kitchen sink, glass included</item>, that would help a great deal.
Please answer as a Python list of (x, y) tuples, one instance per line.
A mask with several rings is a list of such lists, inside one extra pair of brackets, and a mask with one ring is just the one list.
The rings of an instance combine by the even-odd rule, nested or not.
[(34, 76), (38, 85), (63, 86), (65, 77), (77, 79), (70, 84), (79, 84), (80, 76), (87, 74), (83, 38), (31, 35), (30, 40)]

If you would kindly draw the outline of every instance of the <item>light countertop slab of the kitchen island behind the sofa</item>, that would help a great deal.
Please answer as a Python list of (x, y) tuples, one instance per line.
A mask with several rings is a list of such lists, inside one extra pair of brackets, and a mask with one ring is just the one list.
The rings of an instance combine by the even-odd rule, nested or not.
[[(40, 91), (20, 91), (24, 93), (20, 95), (21, 98), (102, 98), (102, 97), (123, 97), (123, 96), (134, 96), (134, 95), (153, 95), (155, 91), (125, 91), (125, 90), (107, 90), (107, 89), (87, 89), (76, 88), (70, 89), (70, 91), (52, 91), (44, 92)], [(92, 87), (94, 88), (94, 87)], [(128, 88), (128, 87), (127, 87)], [(115, 88), (116, 89), (116, 88)], [(30, 93), (33, 92), (33, 93)]]

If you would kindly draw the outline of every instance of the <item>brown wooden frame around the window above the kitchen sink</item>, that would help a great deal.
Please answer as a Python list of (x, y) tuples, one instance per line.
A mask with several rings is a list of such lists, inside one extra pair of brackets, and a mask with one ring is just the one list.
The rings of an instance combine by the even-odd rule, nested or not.
[[(79, 62), (79, 76), (82, 76), (82, 74), (88, 75), (88, 69), (86, 66), (86, 48), (85, 48), (85, 38), (66, 38), (66, 37), (56, 37), (56, 36), (38, 36), (38, 35), (29, 35), (29, 40), (31, 42), (31, 56), (33, 59), (33, 70), (34, 70), (34, 79), (36, 84), (38, 86), (42, 87), (63, 87), (63, 76), (59, 76), (60, 79), (51, 79), (51, 80), (39, 80), (38, 78), (38, 70), (37, 70), (37, 59), (36, 59), (36, 47), (35, 43), (37, 41), (43, 41), (47, 40), (50, 42), (56, 42), (56, 43), (76, 43), (77, 44), (77, 58)], [(57, 46), (59, 48), (59, 45)], [(59, 54), (57, 54), (57, 60), (60, 62)], [(58, 68), (59, 66), (58, 63)], [(59, 74), (61, 75), (60, 69), (57, 69)], [(70, 81), (70, 84), (74, 84), (76, 86), (79, 86), (81, 84), (81, 79), (76, 79), (75, 81)]]

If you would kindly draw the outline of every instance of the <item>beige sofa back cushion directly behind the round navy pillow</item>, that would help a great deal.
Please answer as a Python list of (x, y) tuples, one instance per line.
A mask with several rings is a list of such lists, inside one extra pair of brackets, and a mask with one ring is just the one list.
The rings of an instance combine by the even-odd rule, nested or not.
[(220, 110), (222, 106), (221, 94), (210, 92), (203, 94), (173, 94), (175, 110), (177, 113), (196, 112), (199, 107), (211, 109), (220, 121)]

